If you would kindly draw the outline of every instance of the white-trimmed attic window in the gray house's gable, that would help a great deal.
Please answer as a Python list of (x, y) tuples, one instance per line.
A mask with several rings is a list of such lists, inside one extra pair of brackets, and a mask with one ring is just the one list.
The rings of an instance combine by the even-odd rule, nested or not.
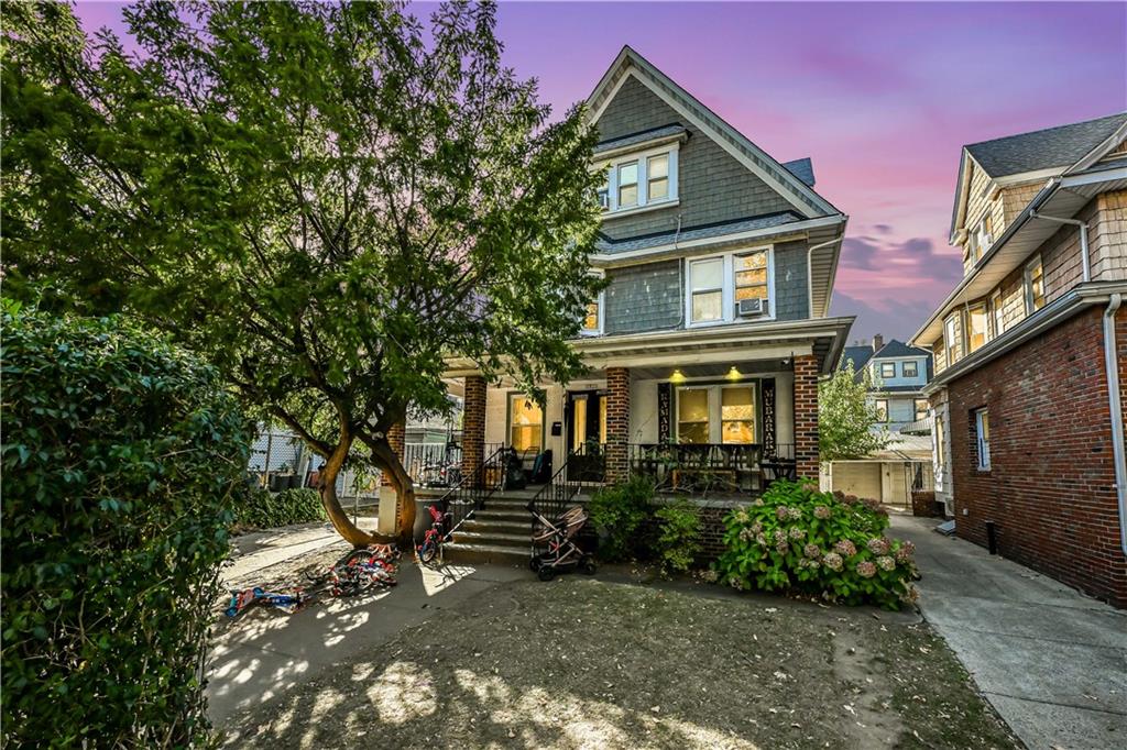
[(638, 151), (598, 164), (606, 179), (598, 203), (607, 214), (659, 208), (677, 202), (677, 145)]

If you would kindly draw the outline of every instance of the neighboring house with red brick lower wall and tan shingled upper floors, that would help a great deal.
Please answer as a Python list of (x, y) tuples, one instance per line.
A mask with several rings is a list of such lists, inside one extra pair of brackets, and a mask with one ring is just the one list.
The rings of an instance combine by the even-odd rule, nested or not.
[(956, 533), (1127, 607), (1127, 113), (965, 146), (932, 351)]

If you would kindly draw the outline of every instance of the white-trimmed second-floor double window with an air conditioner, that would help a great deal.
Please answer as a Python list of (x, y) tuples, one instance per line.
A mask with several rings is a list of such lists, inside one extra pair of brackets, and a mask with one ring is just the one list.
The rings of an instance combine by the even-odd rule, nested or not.
[[(736, 250), (686, 261), (685, 320), (690, 327), (774, 319), (772, 248)], [(742, 300), (762, 300), (762, 313), (742, 318)]]

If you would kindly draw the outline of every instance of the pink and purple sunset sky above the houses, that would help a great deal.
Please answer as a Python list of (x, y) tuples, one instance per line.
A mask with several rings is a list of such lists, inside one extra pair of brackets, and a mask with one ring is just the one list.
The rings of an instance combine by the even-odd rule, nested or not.
[[(416, 12), (427, 12), (416, 3)], [(80, 2), (122, 33), (122, 3)], [(831, 309), (906, 340), (961, 275), (964, 144), (1127, 109), (1124, 2), (503, 2), (505, 57), (561, 111), (623, 44), (850, 215)]]

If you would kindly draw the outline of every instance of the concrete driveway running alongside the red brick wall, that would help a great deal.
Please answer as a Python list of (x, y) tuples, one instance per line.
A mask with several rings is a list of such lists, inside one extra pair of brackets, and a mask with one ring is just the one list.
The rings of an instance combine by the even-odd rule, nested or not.
[(895, 516), (916, 545), (920, 608), (1021, 740), (1127, 748), (1127, 613)]

